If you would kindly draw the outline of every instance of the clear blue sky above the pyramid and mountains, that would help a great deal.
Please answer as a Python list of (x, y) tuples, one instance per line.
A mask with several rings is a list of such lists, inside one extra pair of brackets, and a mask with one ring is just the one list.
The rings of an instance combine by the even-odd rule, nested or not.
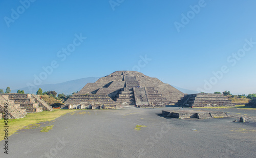
[(0, 1), (0, 88), (139, 69), (182, 88), (256, 93), (256, 1), (21, 2)]

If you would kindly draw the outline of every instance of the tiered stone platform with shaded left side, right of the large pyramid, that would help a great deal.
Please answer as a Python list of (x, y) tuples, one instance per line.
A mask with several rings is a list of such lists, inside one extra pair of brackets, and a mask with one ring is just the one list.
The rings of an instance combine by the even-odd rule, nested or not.
[(191, 94), (184, 95), (175, 105), (180, 107), (213, 107), (213, 106), (234, 106), (231, 100), (223, 94)]

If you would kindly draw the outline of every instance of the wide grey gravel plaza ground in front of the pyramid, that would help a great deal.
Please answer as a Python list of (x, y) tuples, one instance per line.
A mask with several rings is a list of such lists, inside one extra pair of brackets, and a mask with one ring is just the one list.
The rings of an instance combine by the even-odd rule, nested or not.
[[(49, 132), (19, 130), (8, 138), (8, 154), (2, 149), (0, 157), (256, 157), (256, 110), (207, 109), (232, 116), (215, 119), (161, 116), (174, 109), (77, 110), (41, 123), (54, 125)], [(232, 122), (240, 116), (250, 122)]]

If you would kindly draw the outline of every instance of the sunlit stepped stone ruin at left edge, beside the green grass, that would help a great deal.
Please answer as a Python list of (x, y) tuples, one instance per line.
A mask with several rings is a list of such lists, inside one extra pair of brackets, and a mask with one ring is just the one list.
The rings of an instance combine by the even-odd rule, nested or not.
[(6, 109), (5, 105), (8, 105), (8, 119), (19, 119), (25, 117), (27, 113), (53, 110), (44, 100), (41, 100), (37, 95), (33, 94), (1, 94), (1, 114), (4, 113)]

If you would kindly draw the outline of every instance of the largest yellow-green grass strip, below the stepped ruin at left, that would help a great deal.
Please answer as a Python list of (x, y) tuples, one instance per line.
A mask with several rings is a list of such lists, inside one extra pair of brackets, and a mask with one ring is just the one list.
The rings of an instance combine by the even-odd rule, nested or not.
[[(65, 115), (69, 112), (73, 112), (73, 110), (54, 110), (54, 111), (42, 111), (39, 113), (29, 113), (25, 118), (22, 119), (13, 119), (13, 120), (8, 120), (8, 137), (10, 137), (13, 133), (15, 133), (18, 129), (22, 128), (38, 128), (39, 122), (46, 122), (46, 121), (51, 121), (54, 120), (62, 115)], [(4, 119), (0, 120), (0, 127), (4, 127)], [(4, 139), (4, 130), (0, 131), (0, 141)]]

